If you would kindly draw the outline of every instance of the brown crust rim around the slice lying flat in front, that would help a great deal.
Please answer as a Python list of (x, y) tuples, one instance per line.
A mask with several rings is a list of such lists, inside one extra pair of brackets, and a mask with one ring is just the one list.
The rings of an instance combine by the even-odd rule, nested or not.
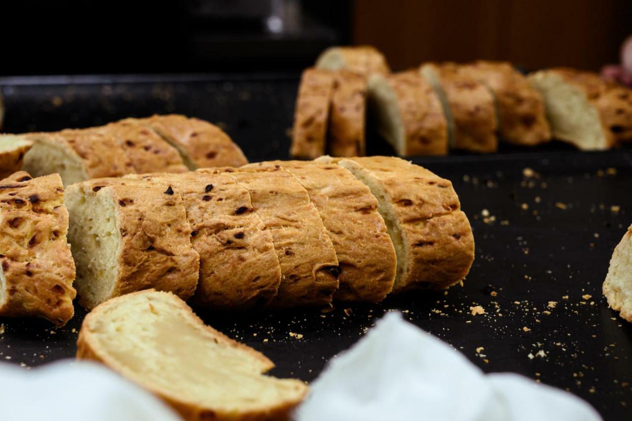
[[(136, 293), (132, 293), (130, 295), (151, 295), (155, 294), (154, 290), (145, 290), (138, 291)], [(115, 358), (112, 358), (108, 355), (104, 350), (100, 349), (99, 343), (95, 338), (94, 328), (92, 325), (95, 320), (98, 320), (102, 313), (107, 312), (108, 308), (119, 305), (119, 303), (123, 300), (129, 299), (128, 296), (121, 296), (117, 298), (112, 298), (105, 303), (102, 303), (98, 307), (96, 307), (92, 312), (90, 312), (82, 323), (82, 328), (79, 331), (79, 336), (77, 338), (77, 353), (76, 358), (80, 360), (92, 360), (95, 362), (100, 362), (110, 369), (118, 372), (119, 374), (126, 376), (127, 372), (125, 367), (119, 363)], [(200, 319), (193, 310), (191, 310), (185, 302), (178, 300), (174, 304), (178, 306), (179, 312), (185, 317), (189, 319), (192, 324), (198, 326), (202, 331), (212, 336), (216, 341), (220, 343), (224, 343), (233, 348), (238, 348), (241, 351), (246, 351), (249, 353), (253, 360), (257, 360), (260, 363), (260, 370), (262, 373), (268, 372), (272, 368), (274, 368), (274, 363), (272, 363), (265, 355), (259, 353), (258, 351), (253, 350), (252, 348), (243, 345), (233, 339), (228, 338), (228, 336), (222, 334), (216, 329), (213, 329), (210, 326), (204, 324), (204, 321)], [(177, 333), (176, 333), (177, 334)], [(129, 376), (126, 376), (129, 377)], [(137, 381), (138, 382), (138, 381)], [(296, 381), (296, 387), (303, 389), (300, 394), (300, 400), (298, 401), (284, 401), (281, 405), (274, 406), (272, 408), (260, 408), (260, 410), (255, 410), (253, 412), (241, 412), (241, 413), (223, 413), (221, 411), (217, 411), (216, 408), (205, 408), (202, 405), (193, 402), (183, 402), (174, 399), (171, 396), (167, 396), (164, 393), (161, 393), (159, 389), (154, 387), (153, 384), (144, 384), (140, 383), (140, 386), (153, 393), (155, 396), (165, 401), (167, 405), (171, 406), (176, 412), (178, 412), (185, 420), (208, 420), (213, 419), (217, 421), (222, 420), (230, 420), (230, 421), (281, 421), (281, 420), (289, 420), (289, 413), (291, 410), (300, 403), (300, 400), (307, 396), (308, 387), (305, 386), (300, 381)]]

